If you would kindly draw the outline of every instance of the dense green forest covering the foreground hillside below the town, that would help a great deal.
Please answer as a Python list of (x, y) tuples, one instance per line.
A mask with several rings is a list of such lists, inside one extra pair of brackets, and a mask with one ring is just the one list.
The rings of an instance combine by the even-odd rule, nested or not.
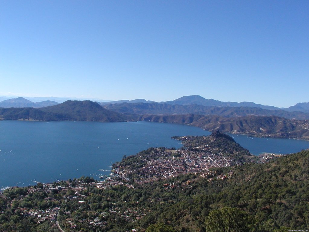
[[(98, 188), (91, 178), (12, 188), (0, 198), (0, 231), (57, 231), (25, 208), (60, 207), (65, 231), (287, 231), (309, 229), (309, 151), (266, 164), (214, 169), (210, 181), (194, 174), (156, 182)], [(233, 173), (231, 178), (215, 178)], [(78, 184), (83, 189), (73, 191)], [(34, 191), (34, 188), (38, 191)], [(82, 197), (82, 203), (79, 202)], [(93, 222), (93, 223), (91, 223)]]

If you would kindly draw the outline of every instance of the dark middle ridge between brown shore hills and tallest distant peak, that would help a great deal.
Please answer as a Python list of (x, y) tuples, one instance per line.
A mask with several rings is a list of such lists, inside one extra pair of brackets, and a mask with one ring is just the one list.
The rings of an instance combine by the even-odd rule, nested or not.
[(241, 117), (247, 115), (278, 116), (290, 119), (309, 119), (303, 112), (285, 110), (265, 110), (252, 107), (217, 107), (203, 105), (170, 105), (166, 103), (121, 103), (104, 105), (108, 110), (127, 114), (215, 114), (223, 117)]

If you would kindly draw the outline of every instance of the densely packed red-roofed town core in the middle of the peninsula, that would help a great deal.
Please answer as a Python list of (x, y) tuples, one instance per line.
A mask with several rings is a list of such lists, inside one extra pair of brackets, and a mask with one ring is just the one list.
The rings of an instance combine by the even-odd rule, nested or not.
[(147, 180), (157, 178), (170, 178), (180, 174), (194, 173), (208, 175), (210, 168), (227, 167), (232, 165), (241, 165), (242, 162), (233, 156), (213, 151), (194, 151), (194, 150), (162, 150), (154, 148), (159, 153), (158, 159), (149, 159), (144, 157), (146, 165), (137, 169), (130, 169), (119, 165), (114, 173), (123, 179), (134, 178), (137, 183), (145, 183)]

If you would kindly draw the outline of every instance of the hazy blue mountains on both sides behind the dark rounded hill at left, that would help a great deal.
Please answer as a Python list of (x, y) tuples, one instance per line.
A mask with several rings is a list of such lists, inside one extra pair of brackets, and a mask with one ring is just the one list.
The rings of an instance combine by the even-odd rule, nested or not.
[[(73, 101), (77, 102), (77, 101)], [(278, 116), (289, 119), (305, 120), (309, 119), (309, 103), (298, 103), (289, 107), (287, 110), (279, 109), (273, 106), (263, 106), (253, 102), (222, 102), (213, 99), (205, 99), (199, 95), (184, 96), (174, 101), (154, 102), (145, 99), (122, 100), (112, 102), (102, 102), (106, 110), (114, 111), (120, 114), (142, 115), (142, 114), (215, 114), (223, 117), (243, 117), (247, 115), (259, 116)], [(3, 108), (33, 107), (42, 108), (56, 106), (60, 103), (55, 101), (32, 102), (23, 97), (8, 99), (0, 102)], [(247, 105), (247, 106), (246, 106)], [(248, 106), (250, 105), (250, 106)], [(55, 107), (56, 109), (57, 107)], [(302, 111), (293, 111), (302, 110)], [(41, 109), (43, 110), (43, 109)], [(305, 113), (307, 112), (308, 113)], [(68, 112), (62, 112), (62, 114)]]

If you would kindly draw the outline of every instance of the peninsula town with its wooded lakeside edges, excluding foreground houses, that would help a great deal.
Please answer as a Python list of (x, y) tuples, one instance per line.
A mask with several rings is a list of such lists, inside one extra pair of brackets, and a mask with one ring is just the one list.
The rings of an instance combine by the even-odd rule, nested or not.
[[(142, 184), (159, 178), (193, 173), (207, 177), (211, 181), (213, 173), (210, 169), (253, 162), (265, 163), (273, 157), (281, 156), (271, 153), (253, 156), (234, 140), (231, 144), (233, 146), (236, 144), (236, 147), (227, 147), (227, 151), (225, 148), (214, 146), (211, 136), (183, 136), (178, 139), (184, 145), (181, 149), (150, 148), (146, 153), (125, 157), (113, 166), (112, 176), (126, 181), (134, 179), (134, 182)], [(196, 141), (197, 139), (199, 141)], [(227, 177), (217, 176), (217, 178)]]

